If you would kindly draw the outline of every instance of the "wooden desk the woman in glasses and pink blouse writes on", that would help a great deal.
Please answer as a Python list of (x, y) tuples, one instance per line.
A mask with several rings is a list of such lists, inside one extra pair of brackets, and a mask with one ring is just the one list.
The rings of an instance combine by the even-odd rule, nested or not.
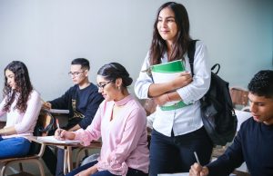
[[(64, 173), (68, 173), (73, 170), (73, 158), (72, 158), (72, 148), (85, 148), (85, 146), (79, 143), (56, 143), (56, 142), (44, 142), (37, 139), (37, 137), (29, 137), (29, 140), (37, 143), (41, 143), (44, 145), (56, 146), (60, 149), (65, 150), (65, 158), (64, 158)], [(99, 148), (101, 147), (101, 142), (91, 142), (87, 148)]]

